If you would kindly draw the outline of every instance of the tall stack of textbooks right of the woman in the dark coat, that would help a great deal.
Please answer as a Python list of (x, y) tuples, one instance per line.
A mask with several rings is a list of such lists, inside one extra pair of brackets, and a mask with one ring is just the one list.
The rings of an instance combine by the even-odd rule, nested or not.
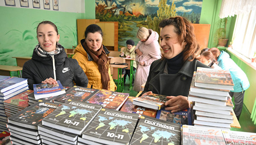
[(228, 70), (198, 67), (194, 72), (188, 99), (193, 101), (195, 126), (211, 126), (225, 130), (233, 123), (233, 103), (229, 91), (233, 80)]

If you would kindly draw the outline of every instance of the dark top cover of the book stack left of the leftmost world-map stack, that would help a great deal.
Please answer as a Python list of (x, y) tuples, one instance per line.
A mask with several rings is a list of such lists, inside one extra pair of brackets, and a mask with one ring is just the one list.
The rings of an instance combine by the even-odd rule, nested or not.
[(17, 114), (17, 117), (13, 116), (13, 120), (26, 122), (26, 124), (37, 124), (60, 105), (51, 102), (38, 102), (34, 106), (24, 109), (24, 113), (20, 112), (21, 114)]

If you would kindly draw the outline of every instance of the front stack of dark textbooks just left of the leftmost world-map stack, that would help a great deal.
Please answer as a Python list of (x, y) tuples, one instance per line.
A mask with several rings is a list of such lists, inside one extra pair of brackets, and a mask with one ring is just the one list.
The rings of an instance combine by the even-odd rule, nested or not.
[(52, 113), (58, 106), (60, 104), (47, 101), (37, 102), (8, 118), (6, 126), (11, 133), (12, 144), (41, 144), (38, 125), (41, 124), (42, 119)]

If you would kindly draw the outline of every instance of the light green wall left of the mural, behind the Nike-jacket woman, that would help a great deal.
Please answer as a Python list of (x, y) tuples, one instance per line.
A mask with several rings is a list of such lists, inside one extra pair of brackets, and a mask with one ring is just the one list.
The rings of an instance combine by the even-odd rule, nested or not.
[[(64, 48), (72, 48), (77, 44), (76, 19), (95, 19), (95, 0), (84, 0), (82, 4), (85, 9), (83, 13), (0, 5), (0, 64), (16, 66), (16, 60), (12, 57), (32, 56), (38, 44), (36, 27), (43, 20), (55, 23), (60, 34), (59, 43)], [(61, 9), (60, 0), (59, 6)]]

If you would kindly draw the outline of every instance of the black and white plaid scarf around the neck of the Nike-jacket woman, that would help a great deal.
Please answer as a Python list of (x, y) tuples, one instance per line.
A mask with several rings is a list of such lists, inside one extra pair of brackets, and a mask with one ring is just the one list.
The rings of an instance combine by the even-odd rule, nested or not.
[(42, 49), (39, 43), (35, 46), (35, 52), (41, 57), (48, 57), (51, 55), (59, 54), (62, 51), (62, 49), (63, 47), (58, 42), (56, 44), (56, 49), (53, 50), (52, 52), (44, 51), (44, 49)]

